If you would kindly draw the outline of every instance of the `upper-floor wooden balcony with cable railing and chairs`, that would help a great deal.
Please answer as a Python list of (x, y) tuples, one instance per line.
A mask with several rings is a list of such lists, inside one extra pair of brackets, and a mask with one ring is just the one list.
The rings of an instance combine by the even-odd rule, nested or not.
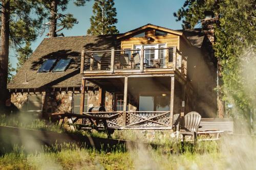
[(187, 59), (176, 47), (135, 50), (82, 51), (81, 74), (178, 71), (187, 75)]

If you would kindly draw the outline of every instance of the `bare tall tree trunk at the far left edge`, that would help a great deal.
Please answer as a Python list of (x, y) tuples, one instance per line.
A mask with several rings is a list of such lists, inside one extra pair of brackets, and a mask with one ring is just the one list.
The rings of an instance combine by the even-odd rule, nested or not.
[(10, 0), (2, 0), (1, 10), (1, 48), (0, 48), (0, 107), (7, 99), (8, 56), (10, 35)]

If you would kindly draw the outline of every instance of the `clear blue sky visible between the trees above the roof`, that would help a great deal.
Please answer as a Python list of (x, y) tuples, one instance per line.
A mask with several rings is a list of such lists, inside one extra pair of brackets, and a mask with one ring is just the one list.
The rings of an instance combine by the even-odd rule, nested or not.
[[(175, 21), (173, 13), (176, 12), (185, 0), (115, 0), (117, 9), (116, 24), (120, 33), (124, 33), (147, 23), (170, 28), (181, 29), (181, 22)], [(63, 30), (65, 36), (86, 35), (90, 28), (90, 17), (92, 16), (92, 6), (94, 1), (88, 2), (84, 7), (75, 7), (71, 1), (65, 13), (72, 13), (79, 23), (71, 30)], [(46, 33), (38, 37), (32, 43), (32, 49), (35, 50), (39, 43), (44, 39)], [(13, 52), (10, 52), (10, 60), (13, 67), (16, 68), (17, 59)]]

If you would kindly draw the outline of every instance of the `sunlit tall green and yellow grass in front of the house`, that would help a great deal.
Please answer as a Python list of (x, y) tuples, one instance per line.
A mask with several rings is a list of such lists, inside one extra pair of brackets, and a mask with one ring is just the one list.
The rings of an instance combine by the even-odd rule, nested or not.
[[(0, 119), (2, 126), (14, 126), (64, 133), (56, 124), (41, 119), (20, 121), (20, 117)], [(105, 133), (78, 132), (107, 137)], [(137, 148), (118, 146), (105, 152), (78, 147), (75, 144), (42, 147), (27, 152), (14, 146), (12, 152), (0, 156), (0, 169), (255, 169), (256, 139), (249, 135), (227, 135), (219, 141), (198, 141), (183, 144), (172, 138), (170, 131), (115, 131), (112, 138), (160, 144), (157, 149), (139, 145)], [(28, 141), (29, 142), (29, 141)], [(2, 145), (0, 146), (3, 147)]]

